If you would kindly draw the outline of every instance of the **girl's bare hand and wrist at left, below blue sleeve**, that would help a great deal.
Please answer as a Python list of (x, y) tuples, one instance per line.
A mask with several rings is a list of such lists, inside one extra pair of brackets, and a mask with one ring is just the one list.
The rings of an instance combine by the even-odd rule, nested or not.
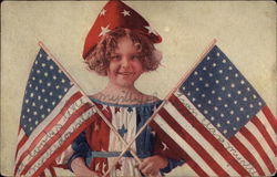
[(81, 157), (73, 159), (73, 162), (71, 163), (71, 168), (76, 177), (84, 177), (84, 176), (101, 177), (102, 176), (101, 174), (95, 173), (91, 170), (90, 168), (88, 168), (84, 164), (84, 159)]

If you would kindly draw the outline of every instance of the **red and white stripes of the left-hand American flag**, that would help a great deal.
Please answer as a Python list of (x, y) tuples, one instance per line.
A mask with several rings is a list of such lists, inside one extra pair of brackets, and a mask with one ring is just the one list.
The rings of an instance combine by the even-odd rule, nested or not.
[[(85, 128), (85, 124), (91, 122), (89, 114), (94, 113), (79, 88), (72, 86), (62, 101), (51, 112), (51, 114), (40, 123), (32, 134), (27, 137), (23, 129), (20, 131), (19, 146), (17, 149), (14, 174), (17, 176), (38, 176), (48, 167), (71, 142)], [(78, 105), (70, 116), (65, 118), (69, 110)], [(82, 115), (85, 115), (82, 118)], [(61, 125), (58, 126), (57, 125)], [(52, 132), (49, 137), (47, 133)], [(69, 137), (64, 138), (64, 135)], [(63, 139), (61, 139), (63, 138)], [(59, 143), (62, 140), (62, 143)], [(51, 150), (51, 152), (50, 152)], [(37, 153), (35, 153), (37, 152)], [(41, 163), (40, 163), (41, 162)]]

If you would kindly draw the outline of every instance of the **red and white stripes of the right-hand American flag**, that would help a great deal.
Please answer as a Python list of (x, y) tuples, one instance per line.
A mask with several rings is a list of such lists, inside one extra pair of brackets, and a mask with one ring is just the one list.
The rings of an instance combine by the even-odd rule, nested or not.
[[(160, 129), (163, 129), (165, 136), (184, 150), (186, 165), (198, 176), (265, 176), (274, 174), (277, 164), (276, 118), (273, 115), (268, 118), (265, 114), (268, 111), (264, 107), (257, 117), (227, 139), (177, 92), (158, 111), (154, 122)], [(216, 137), (204, 126), (207, 124)]]

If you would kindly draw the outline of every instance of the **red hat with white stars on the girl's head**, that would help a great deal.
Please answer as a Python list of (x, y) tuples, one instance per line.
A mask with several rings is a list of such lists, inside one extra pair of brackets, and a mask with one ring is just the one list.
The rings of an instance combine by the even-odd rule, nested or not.
[(110, 0), (99, 13), (93, 27), (85, 38), (83, 58), (85, 59), (93, 46), (106, 32), (115, 28), (137, 30), (145, 34), (153, 43), (162, 42), (162, 38), (153, 30), (148, 22), (135, 10), (120, 0)]

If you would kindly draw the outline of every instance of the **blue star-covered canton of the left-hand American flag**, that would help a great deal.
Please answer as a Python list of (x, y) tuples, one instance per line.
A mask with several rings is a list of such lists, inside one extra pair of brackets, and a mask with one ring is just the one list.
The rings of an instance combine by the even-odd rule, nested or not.
[(41, 49), (31, 69), (22, 104), (20, 125), (27, 135), (48, 117), (71, 86), (70, 80)]

